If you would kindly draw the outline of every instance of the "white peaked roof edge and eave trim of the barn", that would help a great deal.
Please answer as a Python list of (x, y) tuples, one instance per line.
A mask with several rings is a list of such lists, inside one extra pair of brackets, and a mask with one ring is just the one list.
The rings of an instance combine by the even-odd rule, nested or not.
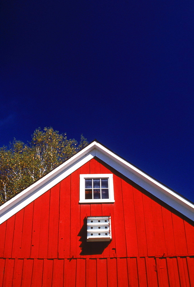
[(155, 197), (194, 221), (194, 204), (130, 164), (97, 140), (27, 187), (0, 207), (0, 224), (34, 201), (69, 174), (96, 156)]

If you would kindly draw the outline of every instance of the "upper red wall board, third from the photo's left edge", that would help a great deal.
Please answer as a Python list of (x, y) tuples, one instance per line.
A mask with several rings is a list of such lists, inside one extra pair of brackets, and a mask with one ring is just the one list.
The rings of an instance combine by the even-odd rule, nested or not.
[(23, 229), (23, 215), (24, 215), (24, 208), (15, 214), (12, 258), (21, 258), (21, 239), (22, 239), (22, 229)]

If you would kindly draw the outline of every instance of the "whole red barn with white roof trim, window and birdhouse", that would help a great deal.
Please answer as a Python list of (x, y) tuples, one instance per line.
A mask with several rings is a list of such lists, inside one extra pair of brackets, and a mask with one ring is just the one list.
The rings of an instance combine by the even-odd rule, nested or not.
[(194, 205), (97, 141), (0, 207), (0, 286), (194, 286)]

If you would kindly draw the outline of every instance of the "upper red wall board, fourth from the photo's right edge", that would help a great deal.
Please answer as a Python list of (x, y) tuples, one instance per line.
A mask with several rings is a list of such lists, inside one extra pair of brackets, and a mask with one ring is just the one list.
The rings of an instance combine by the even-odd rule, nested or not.
[(162, 209), (161, 205), (159, 205), (154, 200), (151, 201), (151, 205), (152, 205), (155, 248), (156, 248), (155, 255), (163, 256), (167, 254), (167, 249), (165, 245)]

